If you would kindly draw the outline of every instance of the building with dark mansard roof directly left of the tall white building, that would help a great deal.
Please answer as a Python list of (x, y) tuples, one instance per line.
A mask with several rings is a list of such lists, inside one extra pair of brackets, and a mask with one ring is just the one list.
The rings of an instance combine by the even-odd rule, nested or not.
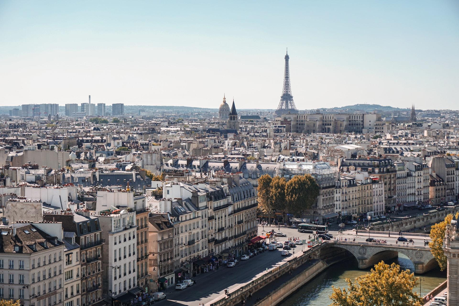
[[(44, 214), (44, 220), (62, 222), (65, 232), (75, 233), (75, 242), (80, 246), (81, 304), (91, 306), (102, 300), (102, 245), (99, 219), (90, 211), (75, 210), (63, 214)], [(67, 234), (70, 235), (70, 234)], [(75, 254), (75, 256), (78, 256)], [(75, 272), (74, 272), (75, 273)], [(77, 271), (78, 275), (78, 271)], [(74, 305), (75, 306), (75, 305)]]

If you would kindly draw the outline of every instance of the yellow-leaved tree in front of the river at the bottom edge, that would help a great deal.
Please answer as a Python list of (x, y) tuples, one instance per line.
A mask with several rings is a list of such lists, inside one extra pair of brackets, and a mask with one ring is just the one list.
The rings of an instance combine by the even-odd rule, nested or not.
[(330, 306), (421, 306), (422, 298), (413, 292), (418, 279), (395, 263), (381, 261), (354, 282), (346, 278), (347, 289), (332, 286)]

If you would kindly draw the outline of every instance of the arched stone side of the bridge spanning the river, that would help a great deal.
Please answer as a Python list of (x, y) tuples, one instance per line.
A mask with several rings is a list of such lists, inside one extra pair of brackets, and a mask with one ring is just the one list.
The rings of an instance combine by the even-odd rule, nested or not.
[[(334, 250), (346, 250), (357, 259), (360, 269), (374, 266), (381, 260), (397, 258), (398, 253), (402, 253), (413, 262), (414, 273), (422, 274), (438, 266), (428, 246), (342, 240), (324, 241), (321, 245), (319, 256), (333, 257), (333, 254), (337, 254)], [(342, 251), (341, 254), (338, 252), (337, 256), (342, 256)]]

